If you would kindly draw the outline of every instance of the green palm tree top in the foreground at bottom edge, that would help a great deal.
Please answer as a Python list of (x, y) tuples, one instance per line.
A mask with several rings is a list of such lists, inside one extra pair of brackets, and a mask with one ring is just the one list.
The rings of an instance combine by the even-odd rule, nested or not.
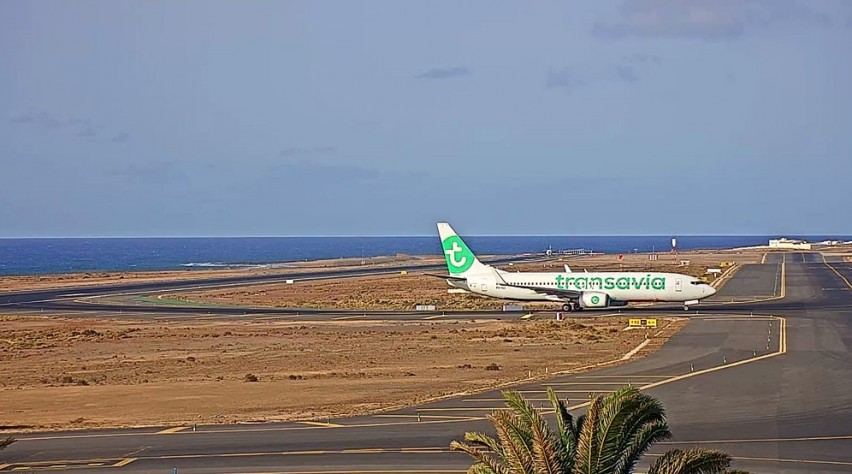
[[(497, 439), (480, 432), (450, 448), (475, 459), (471, 474), (629, 474), (654, 443), (671, 438), (660, 402), (627, 387), (590, 403), (576, 419), (547, 389), (556, 430), (518, 392), (503, 392), (510, 410), (488, 415)], [(651, 465), (649, 474), (725, 473), (731, 457), (707, 449), (672, 450)]]

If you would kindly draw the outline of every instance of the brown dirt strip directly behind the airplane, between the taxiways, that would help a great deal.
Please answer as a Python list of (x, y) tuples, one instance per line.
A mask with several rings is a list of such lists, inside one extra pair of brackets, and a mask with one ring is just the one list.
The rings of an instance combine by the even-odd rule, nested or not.
[[(561, 271), (565, 264), (575, 272), (589, 271), (657, 271), (704, 276), (708, 267), (721, 262), (756, 263), (762, 252), (689, 252), (661, 254), (651, 261), (647, 254), (584, 257), (555, 257), (534, 263), (501, 266), (507, 271)], [(688, 265), (681, 262), (688, 261)], [(221, 304), (238, 306), (275, 306), (285, 308), (340, 308), (355, 310), (411, 311), (418, 304), (435, 305), (438, 310), (498, 310), (503, 300), (470, 293), (448, 293), (449, 286), (441, 278), (417, 272), (377, 275), (363, 278), (298, 281), (293, 284), (273, 283), (158, 295), (159, 301)], [(155, 300), (156, 301), (156, 300)], [(560, 303), (525, 303), (532, 310), (558, 309)]]

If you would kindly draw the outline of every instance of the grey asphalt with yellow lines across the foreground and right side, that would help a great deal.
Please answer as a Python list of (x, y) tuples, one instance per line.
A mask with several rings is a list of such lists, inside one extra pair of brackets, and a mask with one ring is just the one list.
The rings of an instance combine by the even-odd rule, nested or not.
[[(668, 410), (675, 438), (654, 453), (707, 444), (752, 472), (849, 472), (850, 281), (850, 263), (770, 254), (739, 270), (697, 314), (672, 308), (690, 321), (660, 351), (514, 388), (540, 403), (552, 386), (580, 410), (590, 395), (629, 383)], [(495, 389), (347, 419), (26, 434), (0, 455), (0, 471), (464, 472), (470, 461), (449, 452), (449, 442), (488, 430), (484, 415), (501, 406)]]

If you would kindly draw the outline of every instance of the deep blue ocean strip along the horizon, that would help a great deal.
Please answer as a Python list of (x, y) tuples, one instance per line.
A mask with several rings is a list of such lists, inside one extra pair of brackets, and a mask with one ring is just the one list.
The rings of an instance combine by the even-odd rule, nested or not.
[[(810, 242), (849, 236), (796, 236)], [(670, 236), (464, 237), (477, 254), (585, 249), (604, 253), (668, 251)], [(765, 245), (769, 236), (678, 237), (678, 249)], [(286, 262), (395, 254), (440, 255), (436, 236), (0, 239), (0, 275), (179, 270), (285, 265)]]

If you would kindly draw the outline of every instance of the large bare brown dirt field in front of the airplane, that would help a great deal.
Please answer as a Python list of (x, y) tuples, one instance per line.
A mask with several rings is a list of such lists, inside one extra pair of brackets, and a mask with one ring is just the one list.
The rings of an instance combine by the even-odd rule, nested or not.
[[(649, 330), (658, 349), (685, 322)], [(645, 330), (556, 321), (0, 317), (0, 429), (322, 420), (619, 359)], [(499, 370), (488, 370), (496, 364)], [(493, 368), (493, 367), (492, 367)], [(257, 381), (253, 381), (255, 380)]]

